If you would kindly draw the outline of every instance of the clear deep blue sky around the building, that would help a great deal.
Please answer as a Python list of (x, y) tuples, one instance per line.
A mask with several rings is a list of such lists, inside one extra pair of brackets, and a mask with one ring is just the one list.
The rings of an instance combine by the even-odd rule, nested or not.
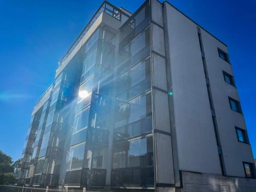
[[(110, 0), (134, 12), (142, 0)], [(170, 0), (228, 45), (250, 143), (256, 157), (256, 2)], [(21, 156), (34, 103), (102, 1), (10, 1), (0, 6), (0, 150)]]

